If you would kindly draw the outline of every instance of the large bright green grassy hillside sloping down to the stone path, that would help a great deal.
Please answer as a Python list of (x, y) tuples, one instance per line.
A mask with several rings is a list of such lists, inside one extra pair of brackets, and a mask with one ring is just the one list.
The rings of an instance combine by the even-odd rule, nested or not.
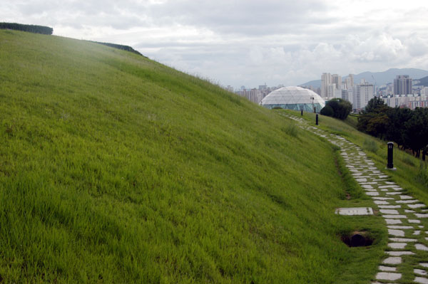
[(337, 148), (126, 51), (0, 31), (0, 140), (3, 283), (370, 283), (386, 246)]

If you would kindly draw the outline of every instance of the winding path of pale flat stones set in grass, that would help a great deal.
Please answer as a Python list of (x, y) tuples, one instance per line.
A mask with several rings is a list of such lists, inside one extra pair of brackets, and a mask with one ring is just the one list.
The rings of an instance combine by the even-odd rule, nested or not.
[[(285, 116), (297, 121), (299, 127), (340, 147), (346, 167), (366, 194), (372, 196), (374, 204), (377, 204), (377, 210), (387, 224), (389, 243), (384, 259), (379, 265), (379, 272), (374, 275), (377, 282), (373, 284), (428, 283), (428, 231), (422, 224), (428, 220), (427, 206), (405, 194), (398, 184), (390, 182), (389, 176), (379, 171), (357, 145), (343, 137), (311, 126), (300, 117)], [(400, 268), (403, 263), (414, 263), (412, 272), (414, 278), (412, 276), (410, 282), (400, 281), (403, 272)]]

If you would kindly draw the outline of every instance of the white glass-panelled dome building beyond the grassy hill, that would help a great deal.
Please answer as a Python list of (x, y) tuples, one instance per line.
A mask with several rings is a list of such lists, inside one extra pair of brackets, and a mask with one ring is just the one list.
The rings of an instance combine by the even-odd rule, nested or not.
[[(325, 107), (325, 100), (312, 90), (301, 87), (284, 87), (269, 93), (260, 102), (266, 108), (281, 107), (285, 110), (304, 110), (320, 112)], [(313, 107), (312, 107), (313, 105)]]

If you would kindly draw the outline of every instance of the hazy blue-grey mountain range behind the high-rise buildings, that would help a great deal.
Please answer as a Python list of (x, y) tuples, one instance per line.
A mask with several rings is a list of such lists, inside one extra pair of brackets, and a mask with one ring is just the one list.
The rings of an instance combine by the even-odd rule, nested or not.
[[(428, 70), (422, 70), (417, 68), (391, 68), (384, 72), (363, 72), (357, 75), (354, 75), (354, 82), (360, 83), (362, 79), (365, 79), (367, 82), (374, 83), (377, 86), (386, 85), (387, 83), (394, 82), (394, 78), (397, 75), (409, 75), (412, 79), (419, 79), (428, 76)], [(348, 75), (342, 76), (342, 80), (347, 78)], [(422, 81), (421, 81), (422, 83)], [(428, 83), (428, 82), (427, 82)], [(321, 80), (312, 80), (307, 83), (303, 83), (305, 86), (312, 86), (314, 88), (321, 87)], [(423, 85), (423, 84), (421, 84)]]

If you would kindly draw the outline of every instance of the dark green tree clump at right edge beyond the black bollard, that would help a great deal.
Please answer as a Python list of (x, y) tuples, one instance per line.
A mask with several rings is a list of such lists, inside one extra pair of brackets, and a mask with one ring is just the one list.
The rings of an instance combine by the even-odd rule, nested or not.
[(358, 117), (357, 128), (382, 140), (410, 149), (425, 160), (428, 151), (428, 108), (388, 107), (381, 98), (372, 98)]

